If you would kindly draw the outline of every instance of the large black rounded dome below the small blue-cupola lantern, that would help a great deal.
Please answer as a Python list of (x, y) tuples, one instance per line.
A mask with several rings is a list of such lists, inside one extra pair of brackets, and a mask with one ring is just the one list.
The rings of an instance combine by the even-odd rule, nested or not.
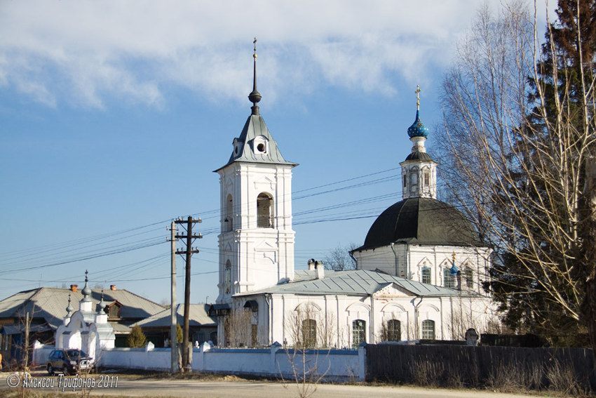
[(474, 225), (463, 213), (431, 198), (410, 198), (387, 208), (374, 221), (363, 246), (356, 250), (391, 243), (478, 246)]

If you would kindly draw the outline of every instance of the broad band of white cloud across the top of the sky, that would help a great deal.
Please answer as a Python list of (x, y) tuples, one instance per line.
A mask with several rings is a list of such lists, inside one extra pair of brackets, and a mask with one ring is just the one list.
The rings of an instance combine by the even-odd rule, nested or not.
[(47, 105), (102, 108), (116, 97), (159, 107), (162, 84), (245, 100), (256, 35), (259, 89), (267, 87), (268, 100), (315, 85), (392, 95), (395, 79), (424, 80), (449, 62), (478, 5), (475, 0), (4, 2), (0, 85)]

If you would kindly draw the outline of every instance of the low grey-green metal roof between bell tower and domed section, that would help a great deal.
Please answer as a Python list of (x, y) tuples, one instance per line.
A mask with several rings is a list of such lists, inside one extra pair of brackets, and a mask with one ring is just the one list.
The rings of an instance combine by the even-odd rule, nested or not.
[[(311, 278), (311, 279), (307, 279)], [(249, 291), (236, 296), (252, 296), (261, 293), (292, 293), (292, 294), (346, 294), (354, 296), (368, 296), (382, 288), (395, 284), (400, 290), (412, 293), (418, 297), (463, 296), (478, 297), (478, 293), (466, 290), (444, 288), (431, 284), (412, 281), (384, 272), (354, 270), (330, 271), (325, 270), (323, 279), (315, 279), (314, 271), (298, 271), (297, 281), (278, 284), (258, 291)]]

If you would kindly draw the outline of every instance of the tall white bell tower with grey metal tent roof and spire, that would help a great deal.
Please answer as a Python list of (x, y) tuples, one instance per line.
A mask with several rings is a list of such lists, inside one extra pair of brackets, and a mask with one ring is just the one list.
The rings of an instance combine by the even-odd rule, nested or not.
[(292, 168), (269, 132), (257, 105), (257, 39), (253, 57), (251, 114), (229, 161), (219, 173), (219, 296), (254, 291), (294, 277)]

